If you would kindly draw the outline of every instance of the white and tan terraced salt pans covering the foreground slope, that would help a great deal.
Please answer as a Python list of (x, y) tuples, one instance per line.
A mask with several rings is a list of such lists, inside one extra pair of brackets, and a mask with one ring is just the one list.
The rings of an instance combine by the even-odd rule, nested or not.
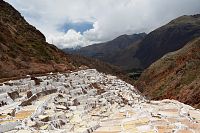
[[(27, 78), (12, 81), (13, 86), (0, 86), (0, 90), (3, 89), (0, 101), (7, 102), (0, 108), (0, 131), (133, 133), (200, 130), (199, 110), (174, 100), (148, 101), (132, 85), (95, 69), (37, 78), (41, 80), (39, 85)], [(5, 88), (13, 91), (21, 88), (19, 98), (13, 101)], [(24, 95), (27, 92), (32, 95), (27, 97)]]

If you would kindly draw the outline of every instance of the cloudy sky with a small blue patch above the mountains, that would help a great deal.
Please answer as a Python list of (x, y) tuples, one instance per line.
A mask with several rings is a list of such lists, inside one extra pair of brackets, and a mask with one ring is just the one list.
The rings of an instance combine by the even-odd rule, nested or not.
[(5, 0), (59, 48), (149, 33), (182, 15), (200, 13), (200, 0)]

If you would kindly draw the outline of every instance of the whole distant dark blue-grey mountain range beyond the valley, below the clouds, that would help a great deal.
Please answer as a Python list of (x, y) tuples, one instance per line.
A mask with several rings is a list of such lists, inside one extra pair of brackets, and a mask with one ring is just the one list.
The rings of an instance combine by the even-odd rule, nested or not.
[[(113, 41), (81, 48), (74, 53), (98, 58), (124, 70), (145, 69), (168, 52), (200, 36), (200, 15), (181, 16), (148, 35), (121, 36)], [(129, 40), (129, 39), (128, 39)], [(117, 48), (117, 49), (116, 49)]]

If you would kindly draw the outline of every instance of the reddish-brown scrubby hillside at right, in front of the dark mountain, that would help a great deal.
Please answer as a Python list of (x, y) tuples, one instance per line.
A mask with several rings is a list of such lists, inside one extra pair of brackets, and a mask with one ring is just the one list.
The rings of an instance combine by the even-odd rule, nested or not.
[(176, 99), (200, 108), (200, 38), (147, 68), (137, 88), (150, 99)]

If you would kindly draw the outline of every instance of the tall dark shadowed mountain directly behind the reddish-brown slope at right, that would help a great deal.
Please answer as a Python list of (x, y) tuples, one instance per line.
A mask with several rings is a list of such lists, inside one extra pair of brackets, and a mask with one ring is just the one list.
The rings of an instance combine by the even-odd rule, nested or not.
[(199, 36), (200, 15), (181, 16), (149, 33), (134, 57), (140, 61), (141, 68), (147, 68), (166, 53), (182, 48)]

